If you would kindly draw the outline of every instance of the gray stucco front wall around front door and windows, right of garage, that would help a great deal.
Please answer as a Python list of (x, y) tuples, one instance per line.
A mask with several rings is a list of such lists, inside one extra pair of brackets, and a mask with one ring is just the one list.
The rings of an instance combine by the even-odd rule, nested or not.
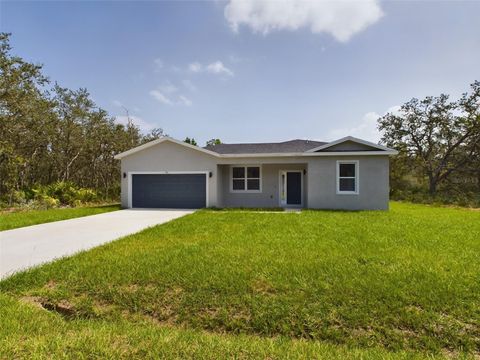
[[(313, 209), (387, 210), (389, 201), (388, 156), (319, 156), (291, 158), (301, 164), (265, 164), (281, 159), (239, 159), (236, 164), (262, 165), (261, 193), (230, 192), (230, 165), (219, 166), (222, 181), (220, 206), (277, 207), (279, 206), (279, 171), (306, 170), (303, 176), (303, 207)], [(287, 159), (283, 159), (285, 161)], [(337, 194), (337, 161), (358, 160), (358, 194)], [(231, 160), (230, 160), (231, 161)]]

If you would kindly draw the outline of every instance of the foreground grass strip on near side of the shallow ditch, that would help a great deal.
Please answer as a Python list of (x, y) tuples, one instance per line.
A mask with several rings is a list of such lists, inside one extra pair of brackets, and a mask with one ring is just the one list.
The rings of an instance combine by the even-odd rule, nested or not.
[[(318, 341), (214, 334), (130, 319), (71, 319), (0, 294), (0, 358), (28, 359), (423, 359)], [(434, 358), (433, 356), (431, 358)]]

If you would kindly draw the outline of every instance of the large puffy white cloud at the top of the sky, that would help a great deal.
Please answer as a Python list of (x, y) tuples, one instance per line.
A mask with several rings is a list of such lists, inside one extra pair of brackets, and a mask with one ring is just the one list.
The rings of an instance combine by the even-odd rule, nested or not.
[(377, 22), (383, 12), (379, 0), (230, 0), (224, 15), (235, 32), (240, 25), (263, 34), (308, 27), (312, 33), (331, 34), (346, 42)]

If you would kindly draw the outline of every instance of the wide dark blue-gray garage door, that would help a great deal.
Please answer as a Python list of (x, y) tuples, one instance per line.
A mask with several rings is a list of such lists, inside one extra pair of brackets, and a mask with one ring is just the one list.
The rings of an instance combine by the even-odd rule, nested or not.
[(191, 209), (205, 206), (205, 174), (132, 175), (132, 207)]

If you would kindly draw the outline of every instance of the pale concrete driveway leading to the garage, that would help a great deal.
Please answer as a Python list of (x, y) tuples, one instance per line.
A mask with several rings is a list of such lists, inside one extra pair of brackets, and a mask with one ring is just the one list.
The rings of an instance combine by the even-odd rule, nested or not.
[(0, 279), (91, 249), (194, 210), (120, 210), (0, 232)]

